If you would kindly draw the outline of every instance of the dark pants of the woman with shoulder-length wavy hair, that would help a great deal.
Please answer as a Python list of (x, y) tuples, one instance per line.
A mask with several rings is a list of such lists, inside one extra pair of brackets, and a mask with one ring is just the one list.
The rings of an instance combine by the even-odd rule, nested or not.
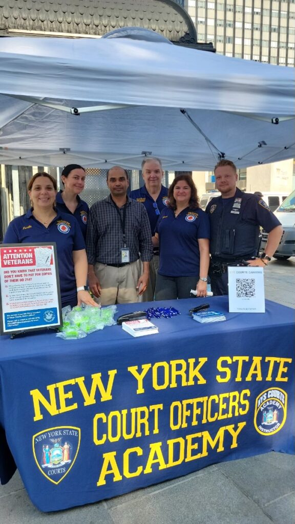
[(177, 298), (192, 298), (191, 289), (196, 289), (199, 277), (167, 277), (157, 274), (156, 300), (174, 300)]

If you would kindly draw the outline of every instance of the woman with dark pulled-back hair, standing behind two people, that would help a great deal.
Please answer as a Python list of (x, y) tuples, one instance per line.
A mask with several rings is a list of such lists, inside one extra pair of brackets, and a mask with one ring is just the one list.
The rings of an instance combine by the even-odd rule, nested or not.
[(75, 216), (84, 239), (86, 239), (89, 206), (87, 202), (80, 199), (79, 194), (84, 189), (85, 177), (85, 169), (82, 166), (69, 164), (61, 173), (61, 182), (64, 184), (64, 190), (59, 191), (56, 195), (57, 209)]

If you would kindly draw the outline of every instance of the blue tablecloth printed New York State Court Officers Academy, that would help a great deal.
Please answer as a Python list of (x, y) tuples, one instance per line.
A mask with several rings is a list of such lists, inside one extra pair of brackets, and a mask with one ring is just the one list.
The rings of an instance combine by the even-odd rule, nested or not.
[[(202, 302), (227, 320), (194, 321), (188, 309)], [(266, 301), (265, 314), (228, 313), (228, 298), (214, 297), (125, 304), (118, 315), (159, 305), (181, 315), (154, 320), (150, 336), (115, 325), (74, 341), (1, 337), (1, 481), (16, 464), (41, 511), (294, 452), (294, 311)]]

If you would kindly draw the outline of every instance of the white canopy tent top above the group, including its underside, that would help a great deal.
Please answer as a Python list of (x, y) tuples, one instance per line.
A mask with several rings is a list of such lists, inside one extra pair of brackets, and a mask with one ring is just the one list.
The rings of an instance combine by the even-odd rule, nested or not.
[[(2, 38), (0, 79), (0, 163), (135, 169), (152, 151), (189, 171), (218, 153), (240, 168), (295, 157), (291, 68), (127, 38)], [(78, 116), (31, 99), (124, 107)]]

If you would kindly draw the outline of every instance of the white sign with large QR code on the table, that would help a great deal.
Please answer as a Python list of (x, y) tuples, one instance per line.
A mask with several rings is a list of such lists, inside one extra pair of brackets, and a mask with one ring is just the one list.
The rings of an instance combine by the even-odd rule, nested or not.
[(228, 267), (230, 313), (265, 313), (264, 269)]

